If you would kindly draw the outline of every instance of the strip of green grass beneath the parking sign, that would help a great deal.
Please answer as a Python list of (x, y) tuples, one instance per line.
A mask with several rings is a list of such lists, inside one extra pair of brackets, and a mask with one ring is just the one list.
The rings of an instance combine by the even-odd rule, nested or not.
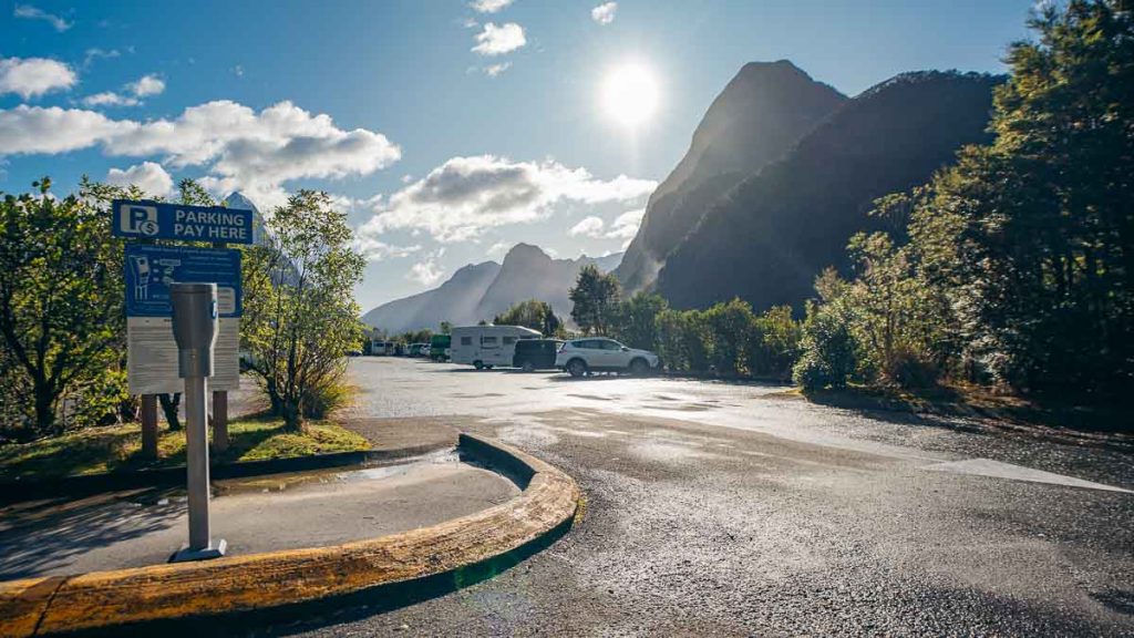
[[(308, 421), (305, 433), (290, 433), (272, 417), (249, 417), (229, 423), (229, 448), (219, 462), (263, 461), (332, 452), (369, 450), (362, 436), (330, 421)], [(185, 433), (159, 433), (156, 461), (142, 457), (138, 423), (91, 428), (24, 444), (0, 446), (0, 480), (57, 478), (169, 468), (185, 464)]]

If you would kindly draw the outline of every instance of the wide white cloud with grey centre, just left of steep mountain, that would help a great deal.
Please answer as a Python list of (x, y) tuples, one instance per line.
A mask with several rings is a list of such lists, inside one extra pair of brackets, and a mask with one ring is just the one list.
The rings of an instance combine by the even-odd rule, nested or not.
[(494, 156), (457, 157), (390, 196), (359, 233), (422, 230), (442, 242), (475, 237), (489, 228), (545, 218), (560, 202), (636, 202), (657, 182), (619, 175), (596, 179), (584, 168), (553, 160), (515, 162)]

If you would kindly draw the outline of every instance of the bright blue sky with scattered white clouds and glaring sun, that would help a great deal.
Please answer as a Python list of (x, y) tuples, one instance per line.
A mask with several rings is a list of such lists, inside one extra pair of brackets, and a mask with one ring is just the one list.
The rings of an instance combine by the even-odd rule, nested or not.
[(619, 252), (747, 61), (1004, 73), (1031, 0), (0, 0), (0, 191), (330, 193), (363, 310), (517, 242)]

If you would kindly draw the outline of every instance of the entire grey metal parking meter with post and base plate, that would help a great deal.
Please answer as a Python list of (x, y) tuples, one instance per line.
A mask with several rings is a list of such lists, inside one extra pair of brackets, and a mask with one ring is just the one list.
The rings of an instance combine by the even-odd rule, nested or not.
[(217, 284), (174, 283), (177, 372), (185, 379), (185, 455), (189, 495), (189, 544), (174, 561), (200, 561), (225, 555), (225, 540), (212, 544), (209, 527), (209, 393), (217, 342)]

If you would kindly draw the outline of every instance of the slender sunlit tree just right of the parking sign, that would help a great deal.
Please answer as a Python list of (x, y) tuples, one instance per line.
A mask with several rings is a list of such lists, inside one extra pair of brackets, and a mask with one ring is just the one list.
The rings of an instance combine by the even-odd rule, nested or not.
[(352, 247), (346, 215), (322, 192), (288, 198), (264, 236), (244, 253), (244, 337), (272, 411), (302, 429), (340, 389), (344, 355), (358, 341), (353, 291), (365, 260)]

